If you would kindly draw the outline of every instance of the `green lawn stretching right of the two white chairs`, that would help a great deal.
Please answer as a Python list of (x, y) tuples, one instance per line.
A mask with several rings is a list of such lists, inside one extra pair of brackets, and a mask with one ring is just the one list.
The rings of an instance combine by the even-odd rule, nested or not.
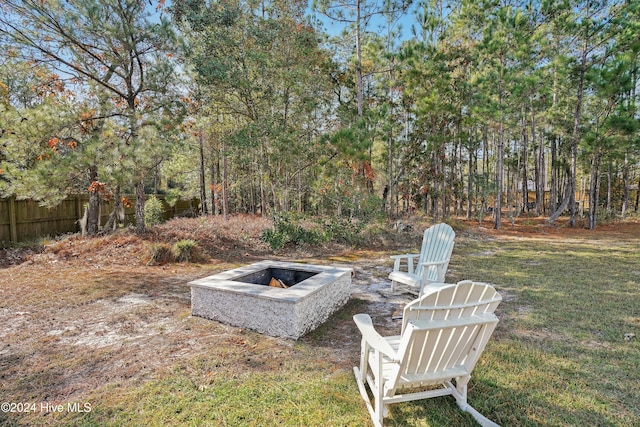
[(459, 279), (491, 282), (506, 297), (474, 376), (497, 392), (492, 418), (502, 425), (640, 425), (640, 346), (624, 341), (640, 326), (638, 242), (496, 243), (456, 251)]

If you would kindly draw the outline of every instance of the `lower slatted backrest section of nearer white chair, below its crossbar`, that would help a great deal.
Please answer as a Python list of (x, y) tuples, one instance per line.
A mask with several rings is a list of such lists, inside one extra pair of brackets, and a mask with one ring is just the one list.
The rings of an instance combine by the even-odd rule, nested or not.
[(493, 313), (409, 322), (398, 348), (400, 361), (385, 394), (459, 377), (468, 381), (497, 323)]

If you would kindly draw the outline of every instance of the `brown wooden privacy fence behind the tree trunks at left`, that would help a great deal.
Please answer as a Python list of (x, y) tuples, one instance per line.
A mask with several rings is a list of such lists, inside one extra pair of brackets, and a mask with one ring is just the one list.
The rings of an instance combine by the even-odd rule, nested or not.
[[(198, 212), (198, 199), (180, 200), (174, 206), (158, 196), (164, 206), (164, 218), (190, 216)], [(130, 197), (135, 203), (135, 197)], [(54, 208), (45, 208), (33, 200), (0, 199), (0, 247), (43, 236), (57, 236), (80, 231), (78, 220), (84, 215), (89, 196), (75, 196), (63, 200)], [(100, 206), (100, 223), (109, 218), (113, 203)], [(135, 224), (134, 207), (125, 208), (125, 225)]]

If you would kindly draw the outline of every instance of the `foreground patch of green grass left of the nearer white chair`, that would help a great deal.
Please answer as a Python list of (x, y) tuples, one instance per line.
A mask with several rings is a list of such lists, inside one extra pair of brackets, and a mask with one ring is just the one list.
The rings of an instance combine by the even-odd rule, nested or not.
[(177, 370), (123, 394), (105, 390), (100, 400), (110, 405), (68, 421), (99, 426), (361, 426), (367, 420), (358, 396), (350, 393), (350, 380), (345, 373), (285, 369), (207, 379), (205, 387)]

